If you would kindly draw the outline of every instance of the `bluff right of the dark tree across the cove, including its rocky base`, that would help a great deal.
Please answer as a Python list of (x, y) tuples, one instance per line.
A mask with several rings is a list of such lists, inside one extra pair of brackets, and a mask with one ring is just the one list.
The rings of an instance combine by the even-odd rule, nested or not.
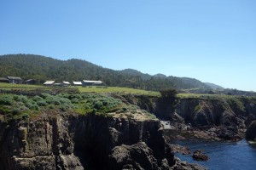
[[(244, 137), (246, 129), (247, 111), (243, 109), (243, 105), (231, 105), (226, 99), (191, 98), (180, 99), (177, 115), (184, 119), (183, 127), (189, 125), (188, 133), (197, 138), (237, 141)], [(177, 122), (171, 124), (176, 126)]]

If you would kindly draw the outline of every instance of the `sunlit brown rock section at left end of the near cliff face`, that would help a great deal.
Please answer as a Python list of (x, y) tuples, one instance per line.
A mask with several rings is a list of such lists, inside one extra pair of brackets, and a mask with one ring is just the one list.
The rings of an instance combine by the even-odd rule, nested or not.
[(0, 169), (84, 169), (68, 123), (59, 116), (3, 126)]

